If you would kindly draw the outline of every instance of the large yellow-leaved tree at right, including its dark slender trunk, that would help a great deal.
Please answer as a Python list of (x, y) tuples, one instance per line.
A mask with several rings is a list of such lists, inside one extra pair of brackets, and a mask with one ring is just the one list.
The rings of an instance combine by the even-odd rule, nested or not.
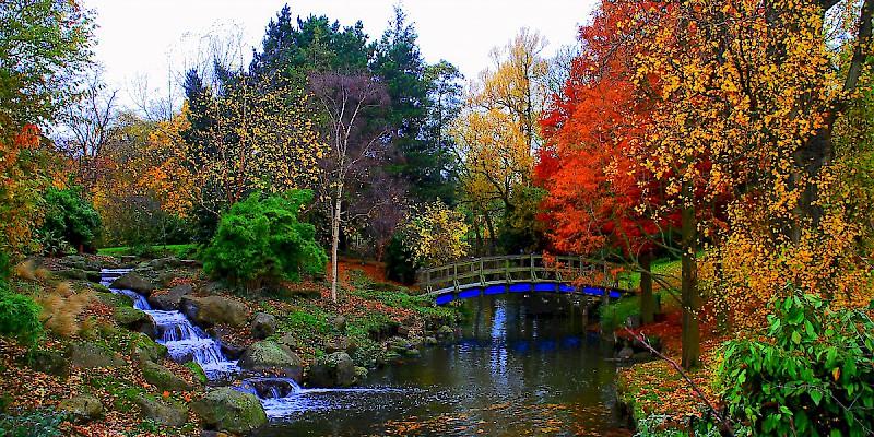
[[(832, 305), (871, 298), (859, 262), (861, 229), (829, 192), (832, 129), (857, 87), (871, 36), (871, 2), (855, 9), (849, 56), (830, 49), (835, 1), (692, 0), (641, 4), (639, 94), (654, 102), (643, 166), (682, 215), (683, 365), (698, 358), (696, 249), (716, 250), (701, 276), (712, 302), (742, 328), (764, 322), (766, 303), (792, 288)], [(834, 67), (838, 68), (834, 68)], [(720, 198), (735, 200), (713, 210)], [(711, 217), (724, 214), (728, 226)]]

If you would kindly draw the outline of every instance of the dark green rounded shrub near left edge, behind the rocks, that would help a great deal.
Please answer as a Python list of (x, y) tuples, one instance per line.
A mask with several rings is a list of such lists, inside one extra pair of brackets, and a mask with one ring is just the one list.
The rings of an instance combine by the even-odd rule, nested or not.
[(79, 188), (49, 187), (44, 196), (46, 211), (37, 236), (44, 250), (63, 252), (90, 246), (101, 229), (101, 214)]

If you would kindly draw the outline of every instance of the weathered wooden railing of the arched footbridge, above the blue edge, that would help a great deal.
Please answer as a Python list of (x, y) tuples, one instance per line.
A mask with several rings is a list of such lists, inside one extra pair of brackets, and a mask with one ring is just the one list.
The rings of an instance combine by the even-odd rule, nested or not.
[(599, 277), (600, 285), (616, 287), (611, 271), (609, 263), (580, 257), (512, 255), (474, 258), (421, 269), (416, 272), (416, 284), (427, 294), (513, 282), (572, 283), (579, 277)]

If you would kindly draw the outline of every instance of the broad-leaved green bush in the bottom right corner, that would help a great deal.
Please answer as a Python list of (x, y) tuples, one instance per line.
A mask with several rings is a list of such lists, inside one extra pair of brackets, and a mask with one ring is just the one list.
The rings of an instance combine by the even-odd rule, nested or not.
[(764, 340), (724, 345), (718, 383), (739, 435), (874, 435), (874, 322), (799, 292), (772, 304)]

